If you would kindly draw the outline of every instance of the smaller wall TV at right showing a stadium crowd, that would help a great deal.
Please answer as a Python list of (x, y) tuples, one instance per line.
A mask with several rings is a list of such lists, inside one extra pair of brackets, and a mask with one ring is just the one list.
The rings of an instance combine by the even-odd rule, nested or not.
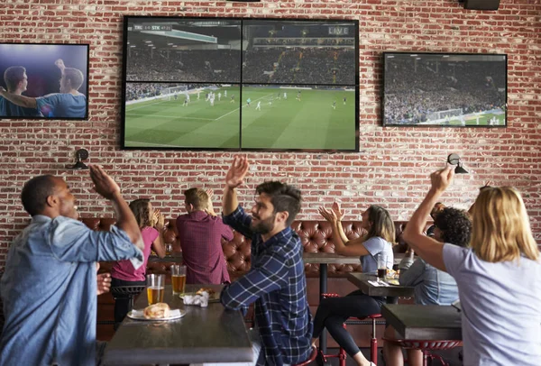
[(507, 126), (507, 55), (383, 53), (383, 125)]

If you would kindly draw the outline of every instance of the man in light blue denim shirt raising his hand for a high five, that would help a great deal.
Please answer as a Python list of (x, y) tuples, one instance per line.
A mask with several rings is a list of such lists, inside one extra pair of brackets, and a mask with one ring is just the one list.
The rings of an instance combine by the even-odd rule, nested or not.
[(14, 239), (0, 283), (5, 326), (2, 365), (96, 364), (96, 261), (142, 264), (141, 233), (115, 181), (90, 167), (98, 194), (112, 201), (117, 226), (97, 232), (77, 220), (62, 178), (35, 177), (21, 195), (32, 222)]

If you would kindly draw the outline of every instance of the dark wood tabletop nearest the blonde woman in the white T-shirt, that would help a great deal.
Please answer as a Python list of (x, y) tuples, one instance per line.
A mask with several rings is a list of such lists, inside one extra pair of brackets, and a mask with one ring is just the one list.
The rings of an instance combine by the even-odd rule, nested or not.
[(381, 316), (406, 340), (462, 340), (460, 312), (437, 305), (384, 305)]

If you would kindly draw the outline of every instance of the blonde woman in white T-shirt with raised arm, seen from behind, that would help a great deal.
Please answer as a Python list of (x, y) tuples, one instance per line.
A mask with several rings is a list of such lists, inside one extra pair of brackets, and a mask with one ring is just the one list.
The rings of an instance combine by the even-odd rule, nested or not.
[(538, 365), (541, 262), (517, 189), (481, 189), (472, 208), (469, 248), (423, 234), (426, 216), (451, 183), (453, 168), (432, 173), (432, 187), (403, 238), (423, 260), (456, 280), (463, 308), (464, 365)]

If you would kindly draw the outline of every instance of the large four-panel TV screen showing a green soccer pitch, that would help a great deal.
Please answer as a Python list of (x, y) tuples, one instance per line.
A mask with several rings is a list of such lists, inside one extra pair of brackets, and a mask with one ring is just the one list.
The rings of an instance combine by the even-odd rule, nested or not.
[(358, 151), (358, 22), (124, 17), (124, 149)]

